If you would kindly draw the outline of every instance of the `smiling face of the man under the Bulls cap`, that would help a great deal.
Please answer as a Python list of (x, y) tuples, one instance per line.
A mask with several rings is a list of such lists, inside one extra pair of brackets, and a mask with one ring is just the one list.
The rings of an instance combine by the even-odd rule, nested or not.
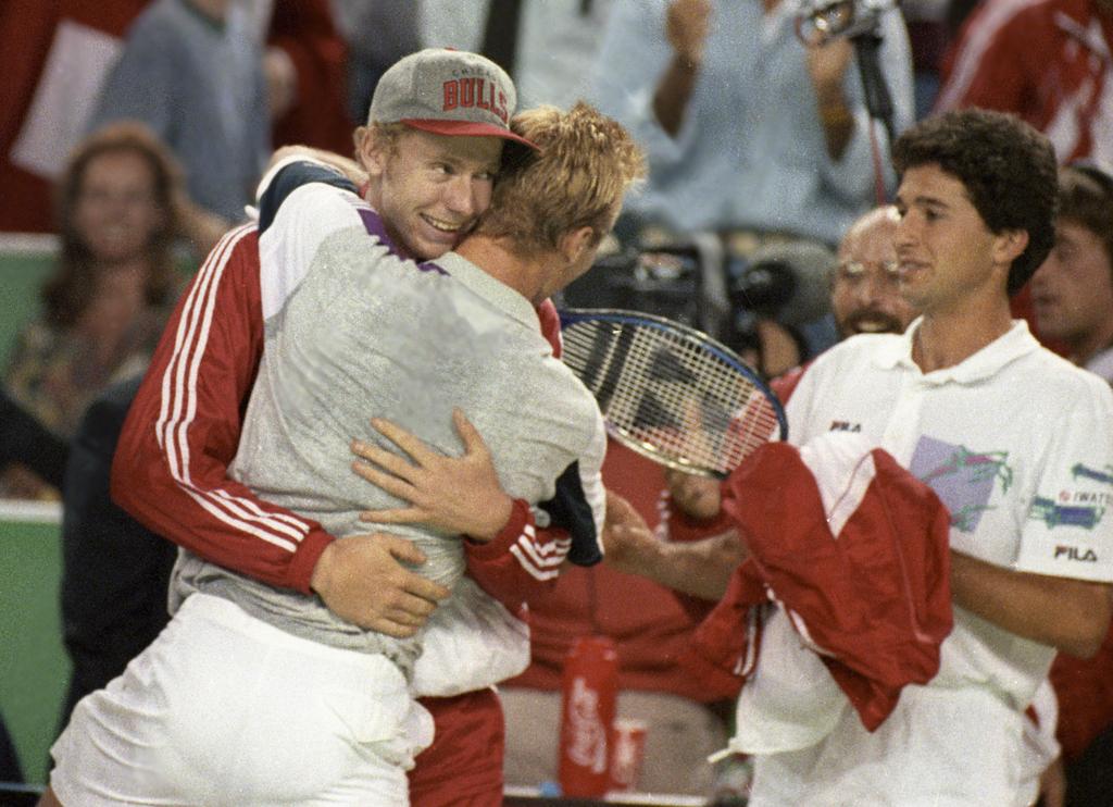
[(491, 205), (503, 141), (408, 129), (393, 145), (366, 136), (361, 158), (371, 175), (367, 200), (391, 237), (429, 260), (452, 249)]

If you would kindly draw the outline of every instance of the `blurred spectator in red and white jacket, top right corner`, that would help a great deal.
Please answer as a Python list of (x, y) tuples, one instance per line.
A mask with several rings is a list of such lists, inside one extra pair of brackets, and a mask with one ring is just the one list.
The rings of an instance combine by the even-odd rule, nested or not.
[(1113, 159), (1113, 11), (1103, 0), (984, 0), (965, 21), (936, 109), (1014, 112), (1060, 163)]

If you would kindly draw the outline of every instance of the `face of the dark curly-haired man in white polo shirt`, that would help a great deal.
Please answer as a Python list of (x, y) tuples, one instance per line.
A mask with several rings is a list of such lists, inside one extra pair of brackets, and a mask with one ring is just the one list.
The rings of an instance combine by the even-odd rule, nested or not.
[(1008, 268), (1026, 234), (992, 233), (962, 181), (935, 164), (905, 171), (896, 206), (900, 292), (909, 305), (935, 315), (1007, 299)]

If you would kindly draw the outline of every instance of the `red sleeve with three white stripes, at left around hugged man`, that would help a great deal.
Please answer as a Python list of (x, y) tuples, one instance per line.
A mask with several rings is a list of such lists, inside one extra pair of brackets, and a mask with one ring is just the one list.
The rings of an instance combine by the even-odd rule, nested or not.
[(125, 422), (111, 495), (207, 560), (308, 592), (332, 535), (228, 478), (262, 352), (258, 235), (245, 225), (178, 302)]

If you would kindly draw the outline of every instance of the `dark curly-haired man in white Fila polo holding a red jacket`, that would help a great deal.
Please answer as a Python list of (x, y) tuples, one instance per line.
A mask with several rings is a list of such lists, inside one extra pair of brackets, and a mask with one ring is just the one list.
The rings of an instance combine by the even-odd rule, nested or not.
[(815, 745), (758, 756), (755, 807), (1032, 804), (1023, 712), (1056, 649), (1092, 655), (1110, 621), (1113, 395), (1008, 312), (1054, 242), (1051, 146), (965, 110), (909, 129), (894, 159), (902, 289), (923, 316), (817, 358), (789, 434), (865, 436), (935, 490), (955, 627), (876, 731), (846, 705)]

